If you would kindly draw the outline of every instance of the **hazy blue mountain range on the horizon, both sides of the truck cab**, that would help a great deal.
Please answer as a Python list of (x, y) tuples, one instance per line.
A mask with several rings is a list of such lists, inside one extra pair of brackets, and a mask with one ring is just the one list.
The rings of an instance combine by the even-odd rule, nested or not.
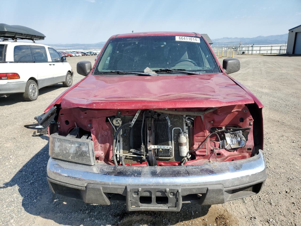
[[(255, 38), (219, 38), (219, 39), (212, 39), (213, 46), (214, 44), (218, 43), (239, 43), (244, 44), (255, 44), (255, 45), (265, 45), (265, 44), (282, 44), (287, 42), (288, 34), (283, 35), (270, 35), (270, 36), (257, 36)], [(106, 42), (97, 42), (92, 44), (46, 44), (48, 46), (52, 46), (54, 49), (62, 50), (62, 49), (101, 49)]]

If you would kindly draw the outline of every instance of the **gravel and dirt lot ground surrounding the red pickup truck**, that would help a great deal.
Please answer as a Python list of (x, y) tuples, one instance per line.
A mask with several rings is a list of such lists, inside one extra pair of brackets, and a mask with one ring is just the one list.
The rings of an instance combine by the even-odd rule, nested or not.
[[(67, 58), (73, 71), (80, 60)], [(265, 105), (268, 178), (255, 196), (220, 205), (183, 205), (181, 212), (127, 212), (123, 204), (89, 205), (51, 193), (46, 180), (48, 136), (23, 127), (66, 88), (40, 89), (36, 101), (0, 98), (0, 225), (301, 225), (301, 57), (238, 55), (232, 76)], [(222, 61), (222, 59), (219, 59)], [(74, 75), (74, 82), (83, 77)]]

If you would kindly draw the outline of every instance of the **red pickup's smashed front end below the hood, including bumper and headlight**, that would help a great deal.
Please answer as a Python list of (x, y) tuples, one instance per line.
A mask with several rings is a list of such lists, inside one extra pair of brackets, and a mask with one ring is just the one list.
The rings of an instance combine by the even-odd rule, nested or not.
[(258, 193), (266, 179), (262, 108), (91, 109), (54, 105), (29, 128), (49, 132), (53, 193), (129, 211), (180, 211)]

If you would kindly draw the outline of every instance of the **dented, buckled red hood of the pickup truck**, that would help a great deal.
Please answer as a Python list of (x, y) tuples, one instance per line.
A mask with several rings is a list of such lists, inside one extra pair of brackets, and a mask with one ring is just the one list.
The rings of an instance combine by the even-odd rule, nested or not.
[(194, 108), (254, 103), (224, 73), (160, 76), (89, 75), (57, 97), (62, 108)]

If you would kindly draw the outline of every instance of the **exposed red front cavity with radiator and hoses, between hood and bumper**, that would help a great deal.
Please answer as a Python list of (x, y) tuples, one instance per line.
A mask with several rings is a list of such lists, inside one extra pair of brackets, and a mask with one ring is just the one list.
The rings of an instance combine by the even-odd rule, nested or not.
[(189, 109), (67, 108), (60, 109), (50, 133), (92, 139), (96, 163), (202, 165), (255, 155), (258, 148), (254, 145), (253, 122), (247, 105)]

